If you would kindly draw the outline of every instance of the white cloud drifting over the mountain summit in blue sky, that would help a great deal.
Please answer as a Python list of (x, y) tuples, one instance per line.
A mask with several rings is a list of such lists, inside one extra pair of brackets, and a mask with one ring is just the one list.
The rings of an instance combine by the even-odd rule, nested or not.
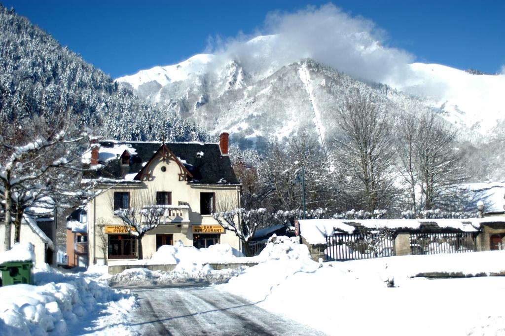
[(270, 36), (214, 39), (209, 51), (217, 61), (237, 60), (251, 73), (311, 58), (369, 81), (388, 83), (411, 75), (412, 55), (386, 46), (385, 33), (372, 21), (352, 17), (332, 4), (270, 13), (256, 35), (260, 34)]

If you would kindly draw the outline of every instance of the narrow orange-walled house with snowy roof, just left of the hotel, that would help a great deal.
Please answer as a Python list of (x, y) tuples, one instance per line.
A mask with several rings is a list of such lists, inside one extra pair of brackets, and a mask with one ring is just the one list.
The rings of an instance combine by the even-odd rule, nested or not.
[(88, 216), (83, 208), (67, 217), (67, 260), (70, 267), (88, 266)]

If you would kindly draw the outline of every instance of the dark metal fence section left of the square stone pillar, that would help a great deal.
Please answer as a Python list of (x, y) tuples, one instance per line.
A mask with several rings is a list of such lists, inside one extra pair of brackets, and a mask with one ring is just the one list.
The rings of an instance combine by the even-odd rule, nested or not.
[(370, 259), (394, 256), (393, 234), (335, 233), (326, 237), (327, 261)]

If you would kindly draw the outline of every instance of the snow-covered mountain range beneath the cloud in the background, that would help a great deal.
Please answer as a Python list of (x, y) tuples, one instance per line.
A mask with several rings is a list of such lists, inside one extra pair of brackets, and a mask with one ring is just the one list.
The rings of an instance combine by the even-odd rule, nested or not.
[(230, 129), (243, 146), (271, 135), (288, 135), (299, 127), (319, 128), (324, 137), (334, 126), (334, 111), (346, 94), (357, 89), (396, 111), (439, 108), (470, 138), (495, 133), (505, 119), (500, 104), (503, 75), (472, 75), (414, 63), (404, 71), (407, 75), (379, 84), (351, 78), (310, 58), (269, 63), (265, 55), (270, 55), (275, 42), (275, 35), (259, 36), (244, 43), (245, 52), (240, 50), (248, 53), (247, 58), (232, 48), (225, 55), (196, 55), (117, 81), (147, 102), (193, 119), (212, 133)]

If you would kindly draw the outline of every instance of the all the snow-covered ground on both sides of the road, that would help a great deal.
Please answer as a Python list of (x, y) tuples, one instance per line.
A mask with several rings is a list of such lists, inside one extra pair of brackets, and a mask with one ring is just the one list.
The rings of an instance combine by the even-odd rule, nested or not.
[[(128, 319), (138, 306), (137, 298), (107, 283), (228, 279), (216, 289), (330, 335), (505, 334), (500, 300), (505, 280), (482, 276), (505, 271), (505, 251), (323, 263), (312, 261), (308, 248), (295, 240), (275, 237), (258, 257), (249, 258), (258, 265), (234, 270), (213, 270), (206, 264), (211, 259), (247, 259), (227, 245), (201, 250), (164, 246), (153, 261), (139, 262), (171, 262), (175, 269), (170, 272), (149, 271), (141, 264), (114, 276), (105, 274), (107, 266), (78, 274), (38, 269), (36, 286), (0, 287), (0, 335), (135, 334)], [(23, 255), (31, 258), (29, 252)], [(429, 280), (418, 276), (430, 272), (479, 277)]]

